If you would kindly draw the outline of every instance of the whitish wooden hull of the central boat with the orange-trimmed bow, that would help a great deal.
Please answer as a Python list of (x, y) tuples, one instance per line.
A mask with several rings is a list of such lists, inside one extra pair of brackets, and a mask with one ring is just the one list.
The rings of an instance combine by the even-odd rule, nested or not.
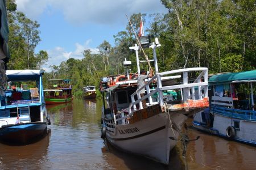
[[(183, 114), (171, 116), (171, 120), (180, 128), (186, 119), (187, 116)], [(106, 139), (119, 150), (163, 164), (169, 163), (170, 150), (177, 142), (170, 137), (176, 139), (179, 133), (170, 127), (166, 113), (159, 113), (134, 124), (116, 125), (114, 129), (106, 130)]]

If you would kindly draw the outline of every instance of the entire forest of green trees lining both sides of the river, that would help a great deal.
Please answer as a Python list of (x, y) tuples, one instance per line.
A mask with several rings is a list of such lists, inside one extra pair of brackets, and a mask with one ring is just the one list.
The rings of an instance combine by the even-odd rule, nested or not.
[[(168, 9), (166, 14), (133, 14), (133, 28), (143, 19), (147, 23), (145, 35), (154, 41), (158, 37), (162, 46), (156, 49), (159, 71), (188, 67), (208, 67), (209, 74), (254, 70), (256, 67), (256, 3), (254, 0), (159, 0)], [(35, 53), (40, 42), (40, 24), (16, 11), (15, 0), (7, 0), (9, 22), (9, 70), (42, 69), (48, 61), (46, 50)], [(125, 18), (125, 14), (124, 19)], [(131, 63), (135, 73), (135, 52), (129, 50), (136, 43), (127, 20), (125, 30), (98, 45), (99, 52), (85, 50), (82, 59), (69, 58), (59, 66), (52, 65), (44, 73), (44, 87), (48, 79), (71, 79), (73, 94), (82, 95), (82, 87), (98, 87), (101, 77), (123, 74), (122, 62)], [(145, 48), (152, 59), (152, 49)], [(139, 52), (143, 59), (142, 52)], [(146, 63), (141, 68), (148, 70)]]

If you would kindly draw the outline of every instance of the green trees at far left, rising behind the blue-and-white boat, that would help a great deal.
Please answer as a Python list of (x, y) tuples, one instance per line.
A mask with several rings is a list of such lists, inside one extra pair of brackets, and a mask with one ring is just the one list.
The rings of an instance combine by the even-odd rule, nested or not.
[(36, 45), (40, 41), (39, 24), (26, 17), (22, 12), (16, 12), (14, 0), (7, 0), (7, 17), (9, 21), (9, 69), (41, 69), (48, 61), (46, 51), (35, 54)]

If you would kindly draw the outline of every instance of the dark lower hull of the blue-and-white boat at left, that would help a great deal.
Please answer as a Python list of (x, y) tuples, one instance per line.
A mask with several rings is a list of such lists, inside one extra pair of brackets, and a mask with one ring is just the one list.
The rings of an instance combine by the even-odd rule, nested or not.
[(43, 137), (46, 133), (46, 122), (10, 125), (0, 128), (0, 141), (5, 143), (26, 144)]

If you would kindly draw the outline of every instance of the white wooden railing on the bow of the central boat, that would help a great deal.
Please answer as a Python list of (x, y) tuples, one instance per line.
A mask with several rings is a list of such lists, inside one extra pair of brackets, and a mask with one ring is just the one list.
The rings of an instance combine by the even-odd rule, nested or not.
[[(201, 71), (201, 73), (197, 76), (196, 79), (193, 79), (193, 81), (188, 79), (188, 73), (192, 71)], [(177, 74), (177, 73), (183, 74), (183, 83), (178, 85), (162, 87), (161, 78), (164, 75)], [(204, 77), (204, 80), (203, 82), (201, 82), (203, 77)], [(156, 82), (157, 86), (154, 90), (150, 91), (150, 84), (152, 82)], [(144, 95), (143, 97), (141, 97), (140, 93), (145, 87), (146, 87), (147, 95)], [(196, 97), (195, 87), (198, 87), (198, 92), (197, 92), (198, 97)], [(186, 103), (188, 99), (192, 99), (192, 100), (202, 99), (203, 90), (204, 90), (204, 97), (208, 97), (208, 69), (205, 67), (199, 67), (199, 68), (165, 71), (163, 73), (156, 74), (150, 80), (148, 80), (148, 82), (145, 83), (143, 87), (139, 88), (136, 92), (134, 92), (131, 95), (132, 102), (128, 108), (124, 109), (123, 111), (120, 111), (118, 114), (115, 114), (115, 117), (114, 117), (115, 124), (117, 124), (117, 122), (118, 124), (120, 124), (120, 122), (121, 124), (129, 123), (129, 120), (127, 120), (127, 117), (130, 117), (131, 114), (133, 113), (132, 108), (133, 108), (133, 111), (137, 111), (136, 105), (139, 104), (139, 109), (143, 109), (142, 100), (148, 99), (149, 105), (160, 103), (160, 105), (163, 106), (164, 105), (163, 91), (175, 90), (175, 89), (179, 89), (181, 91), (181, 99), (183, 100), (184, 103)], [(158, 93), (158, 101), (157, 103), (154, 103), (152, 101), (152, 95), (156, 93)], [(136, 101), (135, 101), (135, 95), (137, 95)], [(125, 112), (128, 112), (126, 116), (124, 115)]]

